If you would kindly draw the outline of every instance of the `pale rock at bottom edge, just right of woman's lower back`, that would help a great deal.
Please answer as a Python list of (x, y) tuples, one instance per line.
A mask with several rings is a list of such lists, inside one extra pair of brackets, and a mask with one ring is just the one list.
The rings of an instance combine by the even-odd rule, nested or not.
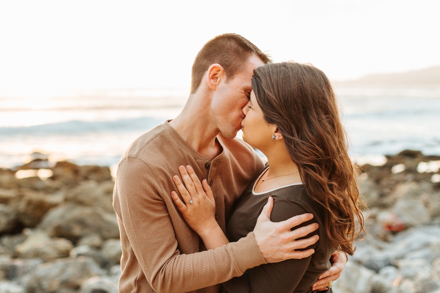
[(374, 274), (374, 271), (364, 268), (354, 261), (348, 261), (341, 277), (334, 282), (333, 291), (370, 293), (371, 278)]

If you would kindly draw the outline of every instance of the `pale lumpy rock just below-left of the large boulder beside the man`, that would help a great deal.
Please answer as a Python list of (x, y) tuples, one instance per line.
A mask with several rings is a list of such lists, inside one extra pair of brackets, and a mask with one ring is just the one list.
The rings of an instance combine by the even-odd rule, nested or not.
[(20, 258), (38, 257), (43, 261), (68, 257), (73, 244), (64, 238), (50, 238), (42, 231), (29, 231), (28, 238), (15, 246), (15, 254)]

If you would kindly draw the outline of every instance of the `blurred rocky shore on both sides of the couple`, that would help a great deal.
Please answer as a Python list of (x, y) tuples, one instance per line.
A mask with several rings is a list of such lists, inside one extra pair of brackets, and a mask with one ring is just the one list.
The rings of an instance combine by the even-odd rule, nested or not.
[[(335, 293), (440, 292), (440, 156), (387, 159), (361, 167), (367, 235)], [(117, 293), (113, 186), (107, 167), (35, 159), (0, 169), (0, 293)]]

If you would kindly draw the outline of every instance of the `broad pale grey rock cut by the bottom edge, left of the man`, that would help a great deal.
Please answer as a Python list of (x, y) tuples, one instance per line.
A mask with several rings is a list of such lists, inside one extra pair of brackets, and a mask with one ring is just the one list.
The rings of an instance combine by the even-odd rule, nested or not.
[(55, 293), (77, 289), (85, 280), (103, 275), (105, 271), (88, 257), (53, 260), (40, 264), (29, 274), (26, 289), (34, 293)]

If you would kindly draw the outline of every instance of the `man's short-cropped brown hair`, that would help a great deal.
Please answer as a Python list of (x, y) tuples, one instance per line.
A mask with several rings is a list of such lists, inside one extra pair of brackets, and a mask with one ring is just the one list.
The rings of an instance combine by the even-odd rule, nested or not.
[(209, 40), (194, 59), (191, 71), (191, 94), (197, 91), (209, 66), (220, 64), (226, 74), (225, 82), (227, 82), (244, 68), (244, 63), (252, 54), (256, 54), (264, 63), (271, 62), (268, 55), (236, 33), (224, 33)]

